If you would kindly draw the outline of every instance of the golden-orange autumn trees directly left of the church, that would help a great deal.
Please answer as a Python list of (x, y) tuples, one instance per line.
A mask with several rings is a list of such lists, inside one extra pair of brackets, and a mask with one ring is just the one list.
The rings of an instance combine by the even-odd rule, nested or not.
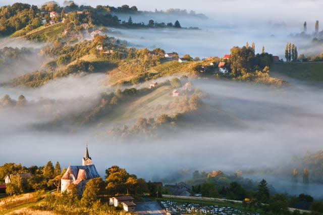
[[(30, 173), (31, 178), (22, 178), (19, 175), (22, 173)], [(55, 167), (49, 161), (45, 166), (31, 166), (29, 168), (21, 164), (6, 163), (0, 167), (0, 183), (4, 183), (6, 175), (11, 175), (11, 182), (7, 184), (6, 192), (8, 194), (21, 194), (35, 190), (50, 190), (54, 187), (59, 188), (62, 170), (59, 162), (56, 163)]]

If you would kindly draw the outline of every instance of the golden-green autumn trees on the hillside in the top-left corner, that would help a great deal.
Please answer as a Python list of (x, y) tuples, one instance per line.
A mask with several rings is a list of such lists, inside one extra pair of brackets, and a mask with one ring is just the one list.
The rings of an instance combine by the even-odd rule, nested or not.
[(36, 6), (15, 3), (0, 8), (0, 36), (10, 35), (25, 27), (30, 31), (40, 25), (40, 10)]

